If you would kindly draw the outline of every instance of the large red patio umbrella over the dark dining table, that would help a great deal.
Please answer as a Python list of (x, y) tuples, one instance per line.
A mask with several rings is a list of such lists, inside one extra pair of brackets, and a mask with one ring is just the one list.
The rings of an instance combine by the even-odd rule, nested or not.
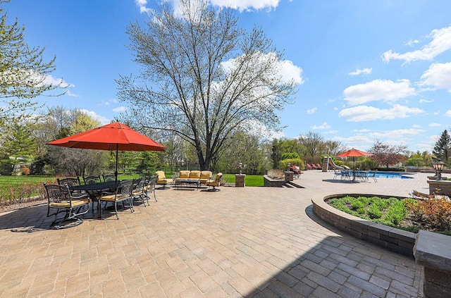
[(118, 151), (163, 151), (164, 146), (153, 139), (116, 122), (76, 135), (56, 139), (49, 145), (78, 149), (116, 150), (116, 181), (118, 180)]

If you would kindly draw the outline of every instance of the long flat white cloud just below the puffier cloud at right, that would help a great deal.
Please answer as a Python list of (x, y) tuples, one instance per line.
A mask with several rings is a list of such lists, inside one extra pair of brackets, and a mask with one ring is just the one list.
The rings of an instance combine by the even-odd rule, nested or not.
[[(375, 108), (373, 106), (354, 106), (345, 108), (338, 116), (347, 118), (346, 121), (362, 122), (371, 120), (393, 120), (397, 118), (407, 118), (412, 115), (424, 113), (421, 108), (409, 108), (395, 104), (392, 108)], [(451, 116), (451, 115), (450, 115)]]

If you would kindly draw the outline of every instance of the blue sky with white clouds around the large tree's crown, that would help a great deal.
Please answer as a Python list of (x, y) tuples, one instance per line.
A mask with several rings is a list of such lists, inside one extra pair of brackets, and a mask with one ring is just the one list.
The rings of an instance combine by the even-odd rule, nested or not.
[[(171, 3), (176, 7), (177, 0)], [(119, 75), (137, 74), (125, 30), (157, 1), (13, 0), (8, 22), (25, 25), (30, 46), (56, 55), (54, 80), (70, 87), (48, 106), (80, 108), (101, 123), (127, 109)], [(366, 150), (379, 139), (431, 151), (451, 123), (451, 1), (211, 0), (235, 9), (240, 27), (261, 27), (299, 82), (280, 112), (277, 137), (309, 131)]]

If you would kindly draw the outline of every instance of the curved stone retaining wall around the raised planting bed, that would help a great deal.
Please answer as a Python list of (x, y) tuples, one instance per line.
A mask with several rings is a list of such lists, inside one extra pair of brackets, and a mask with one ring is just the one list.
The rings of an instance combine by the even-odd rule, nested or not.
[(397, 252), (414, 259), (413, 248), (416, 234), (397, 228), (388, 227), (381, 223), (373, 223), (365, 219), (352, 216), (326, 203), (327, 199), (340, 197), (381, 197), (404, 199), (405, 197), (387, 196), (382, 194), (330, 194), (326, 197), (315, 197), (311, 199), (313, 210), (326, 223), (335, 228), (347, 232), (359, 239), (371, 242), (392, 252)]

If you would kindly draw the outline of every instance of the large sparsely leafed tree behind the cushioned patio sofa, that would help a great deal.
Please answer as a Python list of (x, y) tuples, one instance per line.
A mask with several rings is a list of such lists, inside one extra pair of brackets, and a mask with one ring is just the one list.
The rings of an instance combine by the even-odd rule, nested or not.
[(282, 54), (261, 30), (239, 29), (229, 9), (214, 11), (206, 0), (180, 7), (175, 16), (163, 4), (146, 27), (128, 27), (142, 70), (117, 80), (118, 97), (130, 101), (135, 128), (179, 135), (204, 169), (235, 130), (278, 129), (276, 110), (292, 101), (296, 84), (282, 79)]

